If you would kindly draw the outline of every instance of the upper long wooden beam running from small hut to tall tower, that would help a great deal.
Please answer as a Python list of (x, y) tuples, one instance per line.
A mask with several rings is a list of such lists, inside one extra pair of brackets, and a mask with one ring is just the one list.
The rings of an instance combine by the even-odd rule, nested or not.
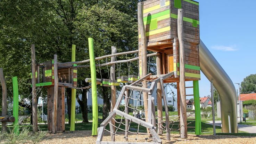
[[(105, 59), (105, 58), (109, 58), (109, 57), (121, 56), (121, 55), (124, 55), (124, 54), (131, 54), (131, 53), (137, 53), (137, 52), (139, 52), (139, 50), (127, 51), (127, 52), (120, 52), (120, 53), (115, 53), (115, 54), (108, 54), (108, 55), (105, 55), (105, 56), (101, 56), (101, 57), (95, 58), (95, 61), (96, 61), (96, 60)], [(82, 64), (82, 63), (86, 63), (86, 62), (90, 62), (90, 59), (83, 60), (83, 61), (64, 62), (64, 63), (60, 63), (59, 65), (60, 65), (60, 66), (63, 66), (63, 65), (71, 65), (71, 64), (77, 64), (77, 65), (78, 65), (78, 64)]]

